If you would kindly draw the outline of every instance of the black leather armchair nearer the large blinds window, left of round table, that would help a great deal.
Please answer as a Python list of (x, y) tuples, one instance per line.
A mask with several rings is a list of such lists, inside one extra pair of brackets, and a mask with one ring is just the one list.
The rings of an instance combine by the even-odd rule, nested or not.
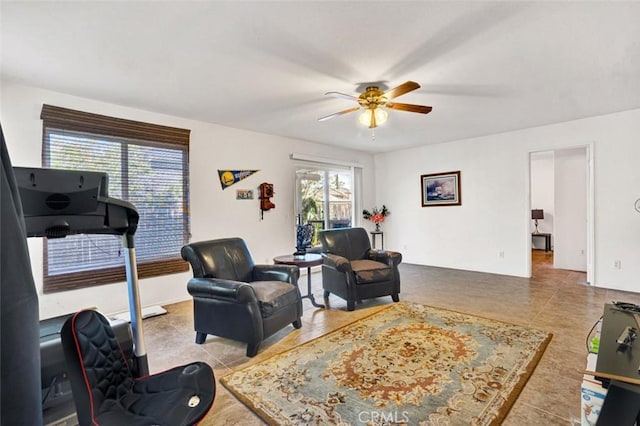
[(255, 265), (240, 238), (191, 243), (182, 247), (191, 263), (187, 284), (193, 296), (196, 343), (207, 334), (247, 343), (247, 356), (287, 324), (302, 326), (300, 270), (290, 265)]

